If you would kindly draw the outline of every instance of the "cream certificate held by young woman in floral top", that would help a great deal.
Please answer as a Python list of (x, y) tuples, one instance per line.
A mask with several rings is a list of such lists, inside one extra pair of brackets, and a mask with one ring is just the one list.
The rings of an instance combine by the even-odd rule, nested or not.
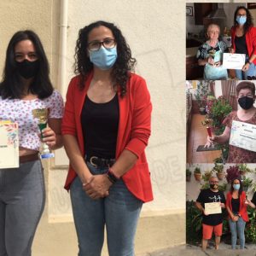
[(0, 121), (0, 169), (19, 167), (18, 124)]

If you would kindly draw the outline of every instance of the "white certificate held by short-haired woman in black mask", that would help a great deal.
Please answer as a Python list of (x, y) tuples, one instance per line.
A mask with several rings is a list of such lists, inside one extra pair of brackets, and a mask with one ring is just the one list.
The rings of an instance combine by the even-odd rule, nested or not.
[(230, 145), (256, 152), (256, 125), (232, 121)]

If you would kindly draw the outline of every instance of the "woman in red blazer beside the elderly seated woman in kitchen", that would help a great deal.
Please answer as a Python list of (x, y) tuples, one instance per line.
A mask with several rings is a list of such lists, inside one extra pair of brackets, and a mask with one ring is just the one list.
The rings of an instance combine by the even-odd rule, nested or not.
[(236, 69), (239, 80), (256, 79), (256, 28), (249, 10), (237, 7), (234, 15), (234, 26), (231, 28), (231, 53), (245, 54), (246, 62), (241, 70)]

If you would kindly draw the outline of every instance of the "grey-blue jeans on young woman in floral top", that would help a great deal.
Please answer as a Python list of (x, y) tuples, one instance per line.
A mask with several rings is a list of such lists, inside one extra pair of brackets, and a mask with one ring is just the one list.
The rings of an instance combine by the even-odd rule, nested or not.
[(0, 169), (0, 256), (31, 256), (44, 201), (40, 160)]

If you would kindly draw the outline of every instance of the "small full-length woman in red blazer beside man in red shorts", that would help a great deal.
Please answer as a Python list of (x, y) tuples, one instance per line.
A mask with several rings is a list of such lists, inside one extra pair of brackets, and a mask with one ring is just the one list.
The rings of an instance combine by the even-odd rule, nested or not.
[(247, 214), (248, 204), (252, 203), (247, 201), (246, 193), (242, 189), (241, 179), (234, 179), (226, 199), (226, 208), (229, 212), (232, 249), (236, 249), (237, 234), (239, 236), (240, 248), (244, 249), (244, 230), (249, 220)]

